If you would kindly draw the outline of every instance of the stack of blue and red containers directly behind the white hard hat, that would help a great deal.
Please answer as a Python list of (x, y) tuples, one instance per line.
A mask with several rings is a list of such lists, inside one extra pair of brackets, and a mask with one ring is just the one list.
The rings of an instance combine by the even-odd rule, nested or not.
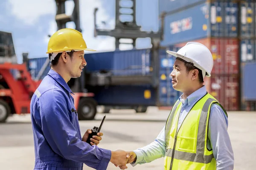
[[(239, 110), (238, 3), (232, 0), (160, 0), (165, 11), (161, 45), (181, 48), (200, 42), (212, 52), (212, 76), (204, 83), (227, 111)], [(179, 5), (177, 5), (179, 4)], [(168, 6), (167, 6), (168, 5)], [(177, 8), (174, 8), (175, 6)], [(171, 11), (166, 11), (171, 9)], [(168, 86), (166, 86), (168, 87)]]

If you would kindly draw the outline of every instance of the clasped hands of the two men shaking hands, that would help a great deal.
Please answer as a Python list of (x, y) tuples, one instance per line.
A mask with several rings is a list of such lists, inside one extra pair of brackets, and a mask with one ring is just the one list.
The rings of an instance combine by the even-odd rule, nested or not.
[(111, 151), (111, 163), (113, 163), (116, 167), (119, 166), (121, 170), (127, 169), (126, 164), (130, 164), (136, 161), (136, 154), (132, 151), (126, 152), (124, 150), (116, 150)]

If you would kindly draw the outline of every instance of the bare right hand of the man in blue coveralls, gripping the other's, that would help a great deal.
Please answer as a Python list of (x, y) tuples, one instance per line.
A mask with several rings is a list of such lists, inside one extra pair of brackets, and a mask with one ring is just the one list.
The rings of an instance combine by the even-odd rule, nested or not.
[(124, 150), (111, 151), (111, 163), (115, 165), (125, 165), (130, 158), (130, 153)]

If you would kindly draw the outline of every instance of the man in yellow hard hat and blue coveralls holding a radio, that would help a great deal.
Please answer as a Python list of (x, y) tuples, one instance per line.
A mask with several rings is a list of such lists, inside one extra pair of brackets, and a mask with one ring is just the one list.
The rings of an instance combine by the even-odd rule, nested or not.
[[(126, 164), (127, 152), (106, 150), (97, 144), (103, 133), (81, 137), (74, 99), (67, 82), (81, 76), (86, 65), (87, 45), (79, 31), (58, 30), (49, 40), (51, 69), (32, 96), (30, 112), (35, 146), (35, 170), (82, 170), (83, 163), (97, 170), (106, 170), (108, 163)], [(129, 155), (129, 154), (128, 154)]]

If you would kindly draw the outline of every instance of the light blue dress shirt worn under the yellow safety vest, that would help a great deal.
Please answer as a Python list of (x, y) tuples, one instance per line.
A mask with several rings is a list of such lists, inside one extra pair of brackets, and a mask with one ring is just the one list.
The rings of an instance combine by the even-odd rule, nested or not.
[[(207, 93), (206, 87), (198, 89), (185, 100), (179, 98), (182, 102), (180, 117), (178, 121), (178, 128), (182, 124), (186, 115), (195, 103)], [(234, 154), (230, 137), (227, 132), (228, 119), (224, 111), (218, 104), (213, 104), (211, 107), (211, 114), (209, 119), (209, 140), (207, 148), (212, 149), (213, 155), (216, 159), (217, 170), (233, 170), (234, 168)], [(154, 161), (155, 159), (165, 156), (165, 127), (161, 130), (157, 138), (151, 144), (145, 147), (134, 150), (137, 155), (137, 160), (132, 166), (137, 164), (144, 164)]]

